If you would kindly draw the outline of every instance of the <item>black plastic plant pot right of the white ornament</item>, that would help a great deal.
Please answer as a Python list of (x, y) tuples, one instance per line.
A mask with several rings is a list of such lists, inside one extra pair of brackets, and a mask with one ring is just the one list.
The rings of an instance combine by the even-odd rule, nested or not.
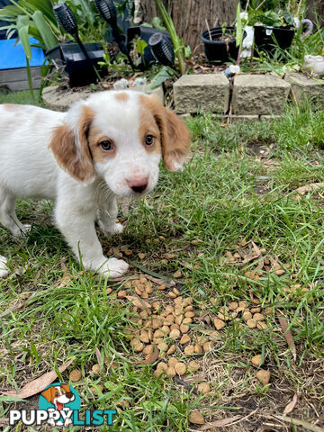
[(293, 42), (293, 27), (255, 25), (254, 31), (257, 51), (266, 51), (271, 55), (274, 54), (276, 46), (279, 46), (281, 49), (287, 49)]

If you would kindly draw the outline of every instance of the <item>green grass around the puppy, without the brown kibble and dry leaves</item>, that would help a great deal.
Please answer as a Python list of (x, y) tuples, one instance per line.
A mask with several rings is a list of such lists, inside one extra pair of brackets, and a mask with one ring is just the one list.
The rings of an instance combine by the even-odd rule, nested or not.
[[(23, 103), (28, 94), (14, 98), (6, 100)], [(82, 272), (50, 224), (52, 205), (24, 201), (18, 204), (18, 214), (21, 220), (32, 222), (29, 238), (13, 239), (0, 228), (0, 253), (12, 257), (13, 270), (21, 270), (0, 280), (0, 313), (22, 293), (35, 295), (22, 309), (0, 320), (0, 390), (20, 389), (75, 356), (68, 372), (72, 368), (82, 372), (75, 386), (83, 407), (118, 409), (111, 431), (196, 430), (188, 423), (193, 409), (202, 410), (206, 421), (215, 421), (237, 414), (243, 417), (259, 407), (260, 419), (266, 421), (275, 412), (283, 412), (294, 392), (299, 401), (293, 417), (309, 422), (318, 419), (324, 405), (324, 196), (319, 190), (295, 200), (293, 191), (322, 182), (323, 119), (324, 112), (313, 112), (310, 106), (291, 108), (280, 121), (237, 122), (229, 127), (211, 114), (191, 118), (192, 158), (184, 172), (162, 169), (156, 190), (134, 204), (128, 216), (120, 216), (127, 222), (122, 237), (101, 237), (105, 251), (128, 245), (133, 251), (131, 260), (150, 271), (172, 276), (180, 269), (179, 289), (193, 298), (194, 308), (202, 315), (208, 312), (212, 318), (224, 304), (249, 302), (250, 293), (260, 299), (261, 306), (279, 308), (293, 330), (296, 363), (283, 330), (270, 315), (268, 329), (257, 333), (232, 321), (220, 331), (204, 363), (201, 355), (195, 357), (203, 363), (200, 374), (211, 383), (209, 396), (202, 398), (165, 376), (157, 379), (154, 365), (134, 363), (139, 355), (132, 352), (126, 329), (136, 314), (127, 303), (106, 293), (108, 286), (119, 290), (124, 281), (107, 283), (98, 275)], [(251, 153), (251, 145), (256, 144), (273, 147), (275, 164), (266, 165)], [(260, 183), (266, 184), (267, 193), (255, 192)], [(229, 247), (242, 238), (265, 247), (281, 265), (291, 268), (287, 266), (280, 277), (266, 274), (259, 281), (248, 280), (244, 275), (248, 265), (243, 269), (224, 261)], [(138, 252), (146, 254), (143, 261)], [(175, 258), (162, 261), (166, 252), (174, 252)], [(135, 272), (131, 269), (130, 275)], [(66, 275), (69, 280), (64, 286), (61, 279)], [(309, 291), (287, 293), (292, 284)], [(164, 293), (154, 295), (159, 302), (169, 302)], [(197, 321), (193, 328), (207, 329), (208, 322)], [(92, 373), (96, 348), (102, 357), (101, 374)], [(257, 383), (250, 365), (251, 357), (259, 353), (271, 371), (270, 386)], [(103, 358), (114, 367), (107, 371)], [(59, 379), (68, 380), (68, 372)], [(98, 384), (103, 390), (95, 394)], [(249, 408), (247, 400), (255, 408)], [(121, 408), (122, 404), (127, 407)], [(13, 406), (0, 399), (0, 417), (7, 416)], [(24, 407), (29, 409), (31, 402)], [(268, 417), (262, 417), (263, 413)], [(257, 425), (259, 420), (252, 414), (240, 430)]]

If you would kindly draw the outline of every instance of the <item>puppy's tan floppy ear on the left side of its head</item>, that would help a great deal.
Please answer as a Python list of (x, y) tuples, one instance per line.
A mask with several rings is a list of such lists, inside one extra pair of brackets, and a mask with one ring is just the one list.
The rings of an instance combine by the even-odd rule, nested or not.
[[(65, 122), (58, 126), (52, 135), (49, 148), (54, 153), (58, 165), (79, 182), (94, 180), (95, 170), (87, 137), (94, 112), (86, 105), (72, 108), (78, 114), (69, 115)], [(70, 121), (75, 118), (76, 121)], [(73, 119), (74, 120), (74, 119)]]

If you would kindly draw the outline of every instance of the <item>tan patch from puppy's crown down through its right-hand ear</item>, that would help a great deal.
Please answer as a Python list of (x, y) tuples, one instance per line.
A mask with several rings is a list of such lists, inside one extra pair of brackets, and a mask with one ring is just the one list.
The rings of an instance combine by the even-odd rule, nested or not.
[(162, 159), (168, 171), (179, 171), (184, 166), (190, 148), (190, 134), (184, 121), (165, 108), (156, 96), (139, 96), (141, 105), (153, 113), (161, 135)]

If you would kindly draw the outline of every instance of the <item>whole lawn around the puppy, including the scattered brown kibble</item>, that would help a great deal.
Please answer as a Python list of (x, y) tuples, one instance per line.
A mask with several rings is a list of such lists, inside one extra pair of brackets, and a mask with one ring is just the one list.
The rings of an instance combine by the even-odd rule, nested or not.
[[(162, 169), (153, 193), (124, 203), (121, 237), (100, 234), (107, 254), (132, 265), (126, 278), (84, 272), (52, 225), (50, 202), (18, 202), (28, 238), (0, 227), (0, 255), (13, 269), (0, 280), (0, 392), (53, 370), (68, 382), (77, 370), (82, 410), (117, 416), (112, 427), (70, 430), (323, 431), (324, 111), (305, 104), (280, 121), (232, 125), (202, 113), (187, 124), (184, 172)], [(145, 356), (148, 330), (164, 333)], [(185, 374), (172, 376), (174, 357)], [(0, 428), (44, 430), (4, 421), (38, 397), (0, 396)], [(194, 414), (214, 426), (189, 422)]]

